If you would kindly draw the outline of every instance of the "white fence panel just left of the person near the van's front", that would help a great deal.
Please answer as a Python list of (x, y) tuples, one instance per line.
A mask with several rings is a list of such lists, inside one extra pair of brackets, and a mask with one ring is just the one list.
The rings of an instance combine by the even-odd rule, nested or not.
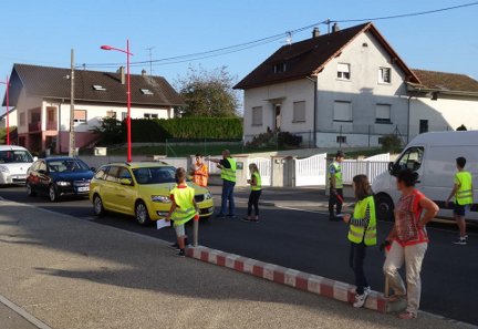
[(326, 153), (295, 160), (295, 186), (325, 185)]

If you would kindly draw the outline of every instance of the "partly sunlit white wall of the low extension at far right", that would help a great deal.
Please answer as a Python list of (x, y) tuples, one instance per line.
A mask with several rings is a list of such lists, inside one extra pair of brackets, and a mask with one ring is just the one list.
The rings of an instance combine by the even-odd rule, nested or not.
[(478, 99), (450, 99), (439, 95), (438, 100), (429, 97), (411, 101), (411, 140), (419, 132), (419, 121), (428, 120), (433, 131), (456, 130), (461, 124), (468, 130), (478, 130)]

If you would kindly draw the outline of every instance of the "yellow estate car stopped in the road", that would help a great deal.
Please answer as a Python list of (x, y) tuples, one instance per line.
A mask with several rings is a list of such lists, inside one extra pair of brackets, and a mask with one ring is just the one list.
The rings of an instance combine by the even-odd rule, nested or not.
[[(169, 192), (176, 186), (176, 168), (159, 162), (111, 163), (100, 167), (90, 183), (94, 213), (105, 210), (136, 217), (141, 225), (165, 218), (172, 206)], [(214, 213), (209, 189), (188, 182), (196, 191), (199, 216)]]

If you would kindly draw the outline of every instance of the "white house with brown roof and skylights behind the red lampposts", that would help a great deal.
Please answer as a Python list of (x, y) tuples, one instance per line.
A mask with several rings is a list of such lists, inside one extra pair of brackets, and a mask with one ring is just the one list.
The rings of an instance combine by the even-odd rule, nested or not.
[[(33, 152), (69, 151), (70, 74), (70, 69), (13, 65), (10, 104), (17, 109), (19, 145)], [(126, 117), (124, 69), (117, 73), (77, 70), (74, 86), (75, 146), (85, 147), (97, 140), (92, 130), (103, 117)], [(175, 106), (184, 104), (164, 78), (145, 73), (131, 75), (131, 99), (132, 119), (170, 119)]]

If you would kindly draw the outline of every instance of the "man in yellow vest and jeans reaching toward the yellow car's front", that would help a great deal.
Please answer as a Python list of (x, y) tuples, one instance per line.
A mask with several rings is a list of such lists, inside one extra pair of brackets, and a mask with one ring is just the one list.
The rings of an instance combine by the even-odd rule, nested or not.
[(227, 217), (236, 217), (236, 205), (233, 199), (233, 188), (236, 186), (236, 161), (231, 157), (229, 150), (222, 151), (222, 160), (209, 158), (209, 161), (216, 163), (218, 168), (221, 169), (222, 179), (222, 195), (221, 195), (221, 208), (217, 218), (226, 218), (227, 205), (229, 202), (229, 212)]

